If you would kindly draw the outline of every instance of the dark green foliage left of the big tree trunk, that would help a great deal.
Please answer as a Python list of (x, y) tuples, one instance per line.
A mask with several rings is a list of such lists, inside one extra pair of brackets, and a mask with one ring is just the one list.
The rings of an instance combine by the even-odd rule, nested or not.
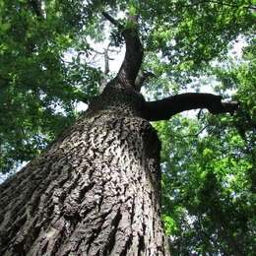
[[(98, 71), (81, 62), (90, 49), (85, 36), (95, 27), (82, 2), (1, 1), (1, 17), (0, 168), (5, 172), (17, 161), (32, 160), (74, 122), (74, 103), (96, 95)], [(92, 26), (84, 31), (88, 23)], [(68, 60), (73, 49), (76, 55)]]

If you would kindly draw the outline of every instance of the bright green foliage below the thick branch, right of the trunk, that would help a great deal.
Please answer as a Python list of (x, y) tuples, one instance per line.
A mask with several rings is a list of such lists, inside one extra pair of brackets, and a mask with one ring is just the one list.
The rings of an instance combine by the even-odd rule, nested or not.
[[(156, 124), (162, 141), (162, 209), (173, 255), (233, 255), (221, 226), (245, 255), (255, 251), (255, 40), (243, 61), (212, 69), (237, 90), (234, 116), (200, 111), (200, 120), (175, 116)], [(230, 86), (231, 85), (231, 86)]]

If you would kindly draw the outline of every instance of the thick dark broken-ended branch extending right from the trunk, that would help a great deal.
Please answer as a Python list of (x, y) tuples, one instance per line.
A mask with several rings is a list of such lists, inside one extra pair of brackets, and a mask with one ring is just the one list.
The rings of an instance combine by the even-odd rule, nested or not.
[(157, 101), (146, 102), (146, 118), (149, 121), (167, 120), (185, 110), (207, 108), (213, 114), (230, 113), (237, 109), (236, 100), (222, 102), (222, 96), (211, 94), (181, 94)]

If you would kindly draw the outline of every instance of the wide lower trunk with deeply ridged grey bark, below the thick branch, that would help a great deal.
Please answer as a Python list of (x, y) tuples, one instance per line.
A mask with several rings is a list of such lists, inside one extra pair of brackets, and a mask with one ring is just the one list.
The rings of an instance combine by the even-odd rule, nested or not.
[(159, 152), (142, 118), (81, 119), (1, 186), (2, 255), (166, 255)]

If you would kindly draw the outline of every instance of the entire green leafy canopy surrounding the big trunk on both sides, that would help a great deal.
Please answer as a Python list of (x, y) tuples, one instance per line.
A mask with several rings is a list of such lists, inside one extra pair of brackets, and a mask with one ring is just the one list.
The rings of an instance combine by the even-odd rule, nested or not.
[[(1, 172), (37, 156), (80, 115), (78, 102), (100, 94), (102, 76), (112, 77), (112, 63), (110, 72), (96, 63), (97, 48), (107, 41), (109, 59), (123, 39), (103, 13), (120, 25), (127, 13), (139, 16), (146, 97), (201, 92), (208, 85), (239, 100), (232, 116), (200, 110), (193, 118), (176, 115), (155, 124), (162, 142), (162, 211), (173, 255), (252, 255), (253, 1), (0, 1)], [(242, 56), (233, 57), (241, 40)]]

